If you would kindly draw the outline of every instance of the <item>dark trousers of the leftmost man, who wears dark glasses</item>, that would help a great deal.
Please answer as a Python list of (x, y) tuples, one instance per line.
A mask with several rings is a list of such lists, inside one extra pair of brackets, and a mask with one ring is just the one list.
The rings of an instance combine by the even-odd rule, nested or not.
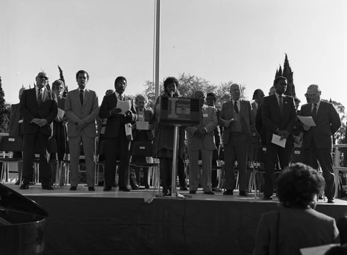
[(33, 179), (33, 161), (37, 144), (40, 152), (40, 182), (42, 186), (49, 186), (51, 180), (49, 136), (40, 133), (24, 134), (23, 139), (23, 183), (28, 184)]

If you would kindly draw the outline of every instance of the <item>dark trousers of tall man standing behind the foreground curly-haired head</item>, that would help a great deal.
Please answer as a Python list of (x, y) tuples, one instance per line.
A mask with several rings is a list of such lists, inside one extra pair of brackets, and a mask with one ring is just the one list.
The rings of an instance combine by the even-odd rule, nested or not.
[(287, 143), (285, 148), (276, 146), (275, 144), (267, 144), (266, 157), (265, 157), (265, 182), (264, 182), (264, 195), (269, 197), (273, 195), (273, 172), (275, 165), (280, 160), (281, 169), (289, 166), (291, 159), (291, 148), (293, 145)]

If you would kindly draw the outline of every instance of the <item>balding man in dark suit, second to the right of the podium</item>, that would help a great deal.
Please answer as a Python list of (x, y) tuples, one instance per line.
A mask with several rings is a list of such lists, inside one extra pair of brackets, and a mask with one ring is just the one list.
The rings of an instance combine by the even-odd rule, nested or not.
[(239, 168), (239, 195), (247, 196), (246, 165), (248, 141), (255, 132), (255, 116), (249, 101), (240, 99), (240, 85), (230, 86), (231, 100), (223, 103), (219, 121), (223, 125), (223, 145), (225, 161), (225, 187), (223, 195), (233, 195), (235, 188), (234, 167)]

